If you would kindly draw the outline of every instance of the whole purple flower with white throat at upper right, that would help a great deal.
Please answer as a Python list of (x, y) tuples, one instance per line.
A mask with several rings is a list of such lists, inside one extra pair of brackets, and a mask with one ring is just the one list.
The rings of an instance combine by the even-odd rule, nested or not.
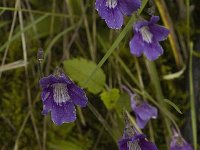
[(139, 57), (144, 53), (148, 60), (153, 61), (163, 54), (159, 44), (167, 38), (169, 30), (157, 25), (158, 16), (152, 16), (150, 21), (138, 21), (134, 25), (134, 37), (129, 42), (131, 54)]

